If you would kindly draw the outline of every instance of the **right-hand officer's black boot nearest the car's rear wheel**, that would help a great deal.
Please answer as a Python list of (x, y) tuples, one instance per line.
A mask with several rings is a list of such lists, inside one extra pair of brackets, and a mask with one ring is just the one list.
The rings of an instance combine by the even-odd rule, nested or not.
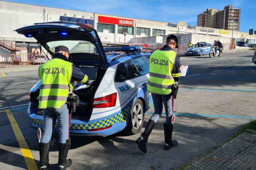
[(139, 149), (144, 153), (147, 153), (146, 143), (148, 142), (148, 136), (152, 132), (155, 125), (156, 125), (156, 123), (153, 120), (149, 119), (144, 132), (136, 140), (136, 143), (138, 144)]

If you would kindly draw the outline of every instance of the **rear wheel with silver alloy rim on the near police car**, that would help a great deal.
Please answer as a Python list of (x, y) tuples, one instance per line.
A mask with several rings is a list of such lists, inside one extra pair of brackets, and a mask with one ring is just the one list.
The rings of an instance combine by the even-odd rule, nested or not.
[(140, 99), (137, 99), (132, 106), (131, 113), (129, 116), (129, 122), (124, 130), (127, 134), (137, 134), (144, 123), (144, 105)]

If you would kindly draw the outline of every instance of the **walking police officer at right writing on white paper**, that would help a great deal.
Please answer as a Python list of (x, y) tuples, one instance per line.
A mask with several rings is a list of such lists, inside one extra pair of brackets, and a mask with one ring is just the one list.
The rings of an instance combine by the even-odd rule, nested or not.
[(171, 87), (174, 81), (178, 81), (181, 76), (183, 65), (180, 64), (179, 56), (173, 51), (178, 48), (178, 38), (175, 35), (167, 37), (166, 45), (160, 50), (156, 50), (149, 58), (149, 80), (147, 89), (152, 94), (154, 102), (154, 114), (149, 119), (144, 132), (136, 140), (139, 149), (147, 153), (146, 143), (148, 136), (153, 130), (156, 121), (161, 116), (163, 105), (165, 106), (166, 122), (164, 125), (165, 150), (177, 146), (178, 141), (172, 140), (173, 133), (173, 94)]

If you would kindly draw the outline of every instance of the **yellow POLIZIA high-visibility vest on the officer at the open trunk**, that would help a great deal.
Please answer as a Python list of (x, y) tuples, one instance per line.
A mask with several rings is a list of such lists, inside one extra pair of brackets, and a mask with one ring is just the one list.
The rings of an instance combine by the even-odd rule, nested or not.
[(53, 58), (39, 67), (41, 87), (39, 109), (59, 109), (67, 102), (72, 76), (72, 63)]

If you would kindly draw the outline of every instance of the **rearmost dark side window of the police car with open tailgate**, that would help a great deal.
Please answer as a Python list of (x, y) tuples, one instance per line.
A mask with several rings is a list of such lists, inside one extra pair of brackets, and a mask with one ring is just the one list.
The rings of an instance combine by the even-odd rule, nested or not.
[(117, 66), (117, 74), (115, 76), (115, 81), (122, 82), (129, 79), (131, 79), (131, 74), (128, 62), (119, 64)]

